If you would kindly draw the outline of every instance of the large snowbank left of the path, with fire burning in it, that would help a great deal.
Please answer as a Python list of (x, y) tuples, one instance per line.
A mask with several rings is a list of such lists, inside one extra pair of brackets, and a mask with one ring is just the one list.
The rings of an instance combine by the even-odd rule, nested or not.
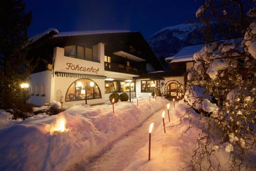
[[(65, 170), (87, 163), (105, 148), (140, 125), (167, 100), (140, 99), (93, 107), (75, 105), (58, 115), (33, 117), (0, 129), (0, 170)], [(67, 131), (50, 135), (60, 117), (66, 118)]]

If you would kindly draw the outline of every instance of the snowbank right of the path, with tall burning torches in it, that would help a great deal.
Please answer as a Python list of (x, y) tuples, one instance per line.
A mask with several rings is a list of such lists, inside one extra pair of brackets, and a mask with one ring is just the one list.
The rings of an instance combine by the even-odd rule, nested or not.
[[(180, 123), (180, 118), (185, 114), (189, 105), (179, 103), (175, 110), (170, 111), (169, 123), (165, 115), (166, 126)], [(182, 119), (180, 125), (168, 127), (166, 134), (163, 132), (163, 125), (160, 124), (157, 128), (154, 127), (152, 132), (151, 144), (151, 160), (148, 161), (148, 142), (144, 147), (140, 148), (134, 155), (131, 163), (124, 170), (179, 170), (190, 165), (193, 150), (196, 148), (200, 127), (196, 120), (199, 115), (195, 112), (191, 115), (191, 129), (186, 134), (183, 134), (189, 126), (189, 118)], [(229, 154), (225, 152), (224, 146), (214, 146), (216, 155), (221, 162), (220, 170), (228, 170), (228, 165), (225, 165), (229, 159)], [(218, 168), (217, 162), (212, 158), (212, 164)], [(202, 164), (202, 170), (207, 170), (207, 163)], [(191, 170), (186, 168), (185, 170)]]

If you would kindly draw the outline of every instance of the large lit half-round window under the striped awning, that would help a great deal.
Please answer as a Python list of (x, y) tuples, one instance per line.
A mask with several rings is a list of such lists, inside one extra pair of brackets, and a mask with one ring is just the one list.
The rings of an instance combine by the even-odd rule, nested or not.
[(91, 79), (78, 79), (69, 87), (65, 101), (101, 98), (98, 85)]

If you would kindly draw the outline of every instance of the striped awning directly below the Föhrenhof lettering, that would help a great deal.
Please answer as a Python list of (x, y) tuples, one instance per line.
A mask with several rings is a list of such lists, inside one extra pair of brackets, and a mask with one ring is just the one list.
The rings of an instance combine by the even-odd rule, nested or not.
[(89, 78), (89, 79), (105, 79), (106, 76), (103, 75), (92, 75), (92, 74), (77, 74), (77, 73), (67, 73), (67, 72), (57, 72), (55, 71), (57, 77), (71, 77), (71, 78)]

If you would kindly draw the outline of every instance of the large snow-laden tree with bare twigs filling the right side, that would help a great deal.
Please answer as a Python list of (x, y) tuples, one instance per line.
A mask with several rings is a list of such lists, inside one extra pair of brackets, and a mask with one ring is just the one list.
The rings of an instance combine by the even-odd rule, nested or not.
[[(207, 43), (194, 54), (194, 67), (187, 74), (185, 100), (202, 116), (198, 148), (191, 160), (201, 169), (219, 145), (230, 153), (229, 168), (252, 169), (255, 150), (255, 1), (204, 1), (196, 16), (205, 25), (217, 22), (241, 32), (241, 38)], [(255, 4), (254, 4), (255, 5)], [(208, 38), (208, 37), (206, 37)], [(217, 148), (218, 147), (218, 148)], [(217, 159), (218, 160), (218, 159)]]

